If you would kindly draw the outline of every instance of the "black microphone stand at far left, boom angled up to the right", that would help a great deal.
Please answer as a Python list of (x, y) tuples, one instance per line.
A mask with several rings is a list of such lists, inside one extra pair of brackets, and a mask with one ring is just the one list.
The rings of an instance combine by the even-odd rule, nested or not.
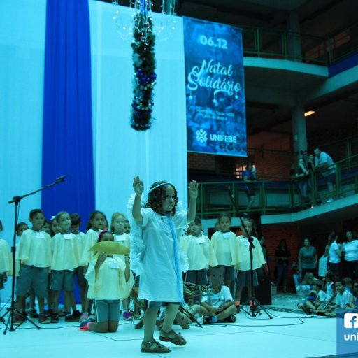
[[(29, 321), (30, 323), (34, 324), (34, 326), (37, 329), (41, 329), (41, 327), (39, 327), (35, 322), (33, 322), (32, 320), (30, 320), (28, 317), (26, 317), (25, 315), (22, 315), (22, 313), (20, 313), (18, 310), (16, 310), (16, 306), (15, 306), (15, 260), (16, 260), (16, 227), (17, 227), (17, 211), (18, 211), (18, 207), (20, 204), (20, 201), (24, 198), (26, 198), (26, 196), (30, 196), (33, 194), (36, 194), (37, 192), (41, 192), (42, 190), (48, 189), (49, 187), (53, 187), (54, 185), (59, 184), (60, 182), (64, 182), (64, 178), (66, 178), (66, 176), (60, 176), (59, 178), (55, 179), (54, 182), (52, 182), (49, 185), (45, 185), (45, 187), (41, 187), (38, 190), (35, 190), (34, 192), (31, 192), (29, 194), (24, 194), (22, 196), (14, 196), (13, 200), (10, 200), (8, 203), (15, 203), (15, 227), (14, 227), (14, 236), (13, 236), (13, 246), (11, 247), (11, 253), (13, 256), (13, 280), (12, 280), (12, 285), (11, 285), (11, 305), (10, 307), (7, 309), (7, 312), (2, 315), (0, 317), (0, 322), (3, 321), (6, 328), (3, 331), (3, 334), (6, 334), (7, 331), (15, 331), (17, 328), (19, 328), (21, 326), (22, 323), (26, 321)], [(14, 317), (16, 315), (19, 315), (20, 317), (22, 317), (24, 320), (17, 326), (14, 327)], [(5, 322), (4, 317), (6, 317), (6, 315), (8, 315), (8, 319)]]

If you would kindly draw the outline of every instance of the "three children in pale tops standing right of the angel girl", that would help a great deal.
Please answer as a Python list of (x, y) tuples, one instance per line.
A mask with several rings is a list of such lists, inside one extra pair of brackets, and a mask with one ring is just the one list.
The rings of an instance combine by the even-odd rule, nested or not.
[[(229, 287), (229, 292), (233, 292), (236, 310), (239, 310), (243, 288), (247, 287), (248, 297), (252, 296), (252, 285), (258, 285), (256, 270), (261, 268), (266, 260), (256, 237), (254, 220), (243, 219), (240, 236), (230, 231), (230, 225), (230, 215), (221, 213), (217, 218), (217, 231), (209, 240), (208, 236), (201, 232), (199, 217), (189, 224), (188, 235), (182, 238), (182, 251), (188, 257), (189, 266), (185, 281), (208, 285), (208, 269), (220, 268), (224, 285)], [(252, 277), (250, 248), (252, 248)]]

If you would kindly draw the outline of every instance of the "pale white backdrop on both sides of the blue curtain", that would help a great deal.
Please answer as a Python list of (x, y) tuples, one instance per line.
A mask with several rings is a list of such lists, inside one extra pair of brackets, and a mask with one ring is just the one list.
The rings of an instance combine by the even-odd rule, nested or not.
[[(14, 206), (8, 201), (41, 187), (45, 4), (0, 1), (0, 237), (9, 243)], [(136, 175), (143, 178), (146, 191), (154, 181), (173, 182), (187, 206), (182, 21), (176, 20), (169, 39), (156, 45), (156, 120), (152, 129), (138, 133), (129, 127), (131, 46), (117, 34), (114, 14), (111, 4), (90, 1), (96, 208), (108, 219), (114, 211), (125, 213)], [(121, 16), (128, 22), (129, 9), (122, 8)], [(19, 220), (27, 221), (29, 211), (40, 206), (40, 193), (25, 198)], [(9, 295), (10, 282), (1, 301)]]

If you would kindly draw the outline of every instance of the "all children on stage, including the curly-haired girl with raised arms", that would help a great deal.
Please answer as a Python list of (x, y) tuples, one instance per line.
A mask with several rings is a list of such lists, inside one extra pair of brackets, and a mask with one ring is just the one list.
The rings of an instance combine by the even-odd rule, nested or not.
[[(120, 300), (127, 312), (129, 295), (137, 297), (137, 293), (136, 302), (146, 302), (141, 307), (144, 325), (141, 352), (170, 352), (154, 338), (159, 308), (166, 306), (159, 340), (185, 345), (185, 338), (173, 331), (173, 323), (182, 322), (179, 308), (185, 305), (184, 282), (206, 287), (208, 269), (212, 284), (210, 295), (204, 293), (199, 302), (187, 307), (188, 311), (192, 317), (196, 313), (203, 315), (206, 322), (234, 322), (237, 308), (231, 296), (233, 287), (237, 288), (235, 303), (238, 306), (242, 288), (247, 286), (250, 290), (252, 283), (257, 285), (255, 269), (265, 263), (261, 245), (254, 235), (255, 223), (245, 219), (243, 234), (236, 236), (230, 231), (231, 217), (222, 214), (217, 231), (209, 241), (202, 234), (201, 221), (196, 217), (196, 182), (189, 183), (187, 211), (180, 208), (176, 188), (170, 182), (155, 182), (146, 201), (141, 198), (144, 186), (140, 178), (134, 178), (133, 187), (135, 194), (129, 201), (131, 236), (124, 232), (126, 219), (120, 213), (115, 213), (108, 224), (103, 213), (94, 211), (83, 234), (79, 231), (78, 215), (61, 211), (47, 228), (43, 211), (31, 210), (31, 229), (23, 223), (22, 233), (19, 228), (15, 322), (20, 324), (24, 320), (24, 303), (29, 295), (37, 296), (39, 322), (59, 322), (59, 296), (63, 290), (68, 320), (81, 319), (81, 330), (115, 331), (120, 319)], [(182, 236), (185, 229), (188, 229), (187, 235)], [(115, 241), (130, 247), (130, 260), (128, 256), (90, 250), (101, 241)], [(7, 266), (0, 264), (2, 281), (6, 280), (5, 273), (11, 271), (8, 256), (7, 259), (1, 257), (2, 262), (8, 260)], [(183, 272), (186, 272), (184, 280)], [(82, 315), (76, 309), (73, 294), (75, 275), (81, 289)], [(223, 280), (227, 286), (222, 285)], [(45, 310), (45, 299), (48, 310)], [(95, 320), (90, 315), (92, 301)], [(30, 303), (30, 307), (35, 309), (34, 304)]]

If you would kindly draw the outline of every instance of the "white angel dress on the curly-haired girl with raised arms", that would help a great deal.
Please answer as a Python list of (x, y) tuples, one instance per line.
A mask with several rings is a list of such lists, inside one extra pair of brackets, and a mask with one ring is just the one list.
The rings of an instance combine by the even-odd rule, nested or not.
[[(187, 267), (180, 255), (180, 236), (187, 227), (187, 213), (177, 211), (171, 219), (150, 208), (143, 208), (141, 213), (143, 223), (140, 227), (134, 222), (131, 237), (131, 267), (140, 275), (138, 299), (182, 302), (182, 271)], [(169, 220), (175, 227), (176, 238)]]

